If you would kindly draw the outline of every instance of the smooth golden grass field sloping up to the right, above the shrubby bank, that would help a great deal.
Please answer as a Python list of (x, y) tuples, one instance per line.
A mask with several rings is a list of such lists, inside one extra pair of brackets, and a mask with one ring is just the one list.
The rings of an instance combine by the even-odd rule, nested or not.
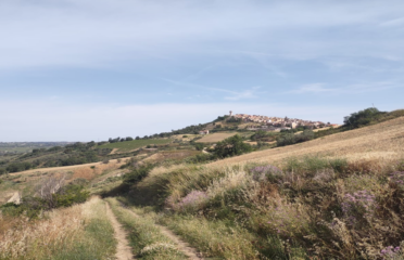
[(323, 155), (356, 159), (395, 160), (404, 158), (404, 117), (310, 142), (245, 154), (210, 164), (232, 165), (247, 161), (279, 161), (288, 157)]

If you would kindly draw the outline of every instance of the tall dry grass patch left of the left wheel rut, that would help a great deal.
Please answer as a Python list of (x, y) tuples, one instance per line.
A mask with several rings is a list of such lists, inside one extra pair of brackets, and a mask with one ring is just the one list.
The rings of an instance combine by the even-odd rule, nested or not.
[(36, 221), (3, 218), (0, 259), (111, 259), (116, 243), (104, 207), (92, 198)]

